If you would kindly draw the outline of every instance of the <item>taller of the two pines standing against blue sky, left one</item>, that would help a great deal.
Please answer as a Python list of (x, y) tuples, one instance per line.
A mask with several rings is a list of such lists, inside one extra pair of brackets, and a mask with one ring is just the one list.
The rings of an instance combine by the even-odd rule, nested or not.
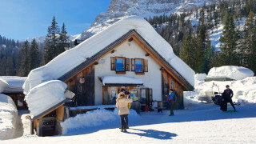
[(45, 40), (45, 53), (44, 63), (50, 62), (53, 58), (58, 55), (58, 42), (59, 42), (59, 27), (56, 22), (55, 16), (51, 22), (51, 26), (48, 27), (48, 33)]

